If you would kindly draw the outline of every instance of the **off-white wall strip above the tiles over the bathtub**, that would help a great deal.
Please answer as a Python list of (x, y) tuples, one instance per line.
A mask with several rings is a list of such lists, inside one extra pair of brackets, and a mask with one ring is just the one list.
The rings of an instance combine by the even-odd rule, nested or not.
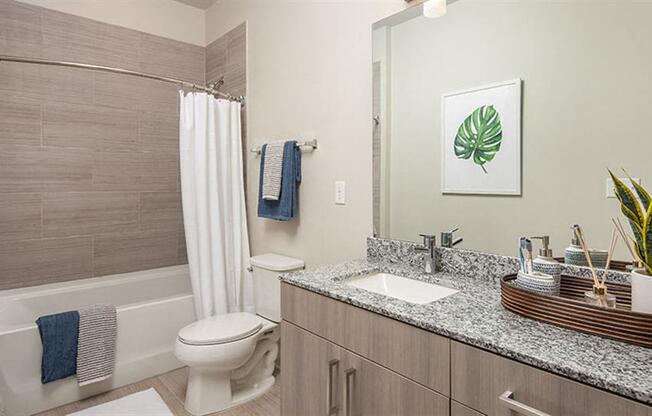
[(19, 0), (152, 35), (206, 46), (204, 11), (174, 0)]

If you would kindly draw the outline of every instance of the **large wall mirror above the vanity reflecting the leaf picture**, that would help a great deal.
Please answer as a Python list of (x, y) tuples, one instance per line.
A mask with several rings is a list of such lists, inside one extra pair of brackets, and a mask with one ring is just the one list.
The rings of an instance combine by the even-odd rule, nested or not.
[[(610, 168), (652, 186), (652, 2), (449, 0), (373, 27), (374, 232), (516, 255), (581, 224), (607, 249)], [(621, 245), (616, 257), (628, 260)]]

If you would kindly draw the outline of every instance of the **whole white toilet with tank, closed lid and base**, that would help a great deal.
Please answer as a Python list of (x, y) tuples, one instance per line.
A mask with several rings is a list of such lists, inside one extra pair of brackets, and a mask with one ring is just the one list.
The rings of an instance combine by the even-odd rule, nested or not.
[(274, 385), (281, 337), (280, 273), (303, 269), (302, 260), (278, 254), (250, 259), (256, 315), (211, 316), (182, 328), (175, 355), (190, 369), (186, 410), (218, 412), (253, 400)]

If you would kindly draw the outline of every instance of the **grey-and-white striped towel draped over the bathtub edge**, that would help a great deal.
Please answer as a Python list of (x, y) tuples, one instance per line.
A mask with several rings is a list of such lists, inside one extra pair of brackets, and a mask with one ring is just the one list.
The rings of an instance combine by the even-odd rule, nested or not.
[(117, 331), (114, 305), (94, 305), (79, 310), (79, 386), (106, 380), (113, 375)]

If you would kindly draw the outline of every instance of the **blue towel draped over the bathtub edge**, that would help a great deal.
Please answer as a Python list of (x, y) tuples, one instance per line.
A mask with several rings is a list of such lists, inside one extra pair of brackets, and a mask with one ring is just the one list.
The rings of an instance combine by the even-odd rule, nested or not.
[(77, 373), (79, 312), (41, 316), (36, 320), (43, 344), (41, 383), (49, 383)]

